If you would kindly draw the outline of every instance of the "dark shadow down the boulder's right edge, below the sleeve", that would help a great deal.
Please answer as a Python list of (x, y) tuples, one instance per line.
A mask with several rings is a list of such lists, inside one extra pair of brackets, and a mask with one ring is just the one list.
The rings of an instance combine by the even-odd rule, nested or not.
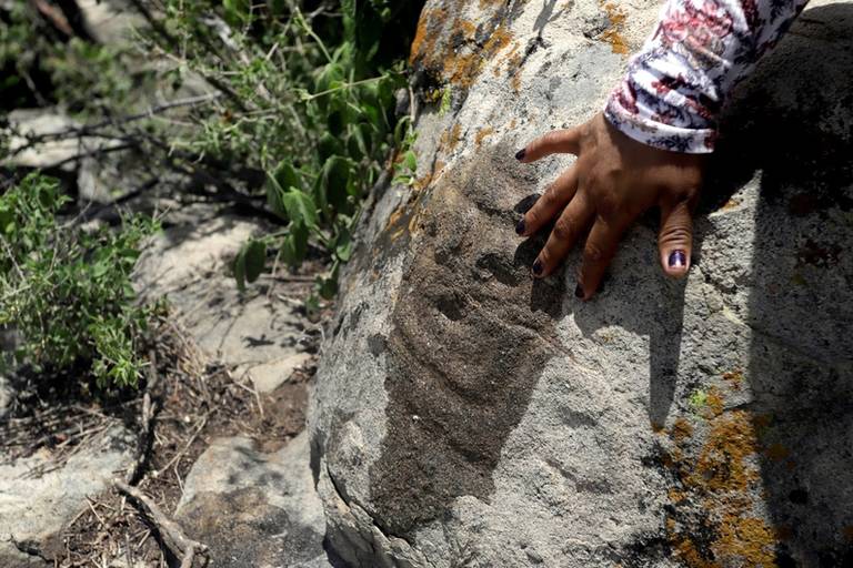
[(760, 171), (749, 412), (779, 566), (853, 566), (853, 7), (802, 14), (735, 92), (717, 196)]

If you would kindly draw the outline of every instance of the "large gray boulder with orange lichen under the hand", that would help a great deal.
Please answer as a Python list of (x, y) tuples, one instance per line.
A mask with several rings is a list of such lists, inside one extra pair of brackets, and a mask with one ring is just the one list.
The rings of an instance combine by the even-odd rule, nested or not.
[(603, 105), (655, 4), (426, 2), (417, 181), (369, 207), (309, 415), (344, 564), (853, 562), (851, 3), (732, 97), (686, 281), (652, 216), (589, 303), (576, 252), (529, 276), (514, 222), (573, 159), (513, 153)]

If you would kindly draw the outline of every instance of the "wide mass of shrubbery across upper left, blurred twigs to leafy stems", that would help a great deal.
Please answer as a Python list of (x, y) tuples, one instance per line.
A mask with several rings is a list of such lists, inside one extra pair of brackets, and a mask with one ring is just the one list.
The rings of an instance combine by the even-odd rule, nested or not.
[(41, 65), (59, 106), (97, 125), (87, 133), (275, 219), (280, 227), (237, 256), (240, 288), (311, 255), (327, 267), (317, 294), (333, 296), (363, 197), (383, 174), (414, 181), (410, 121), (395, 106), (423, 1), (130, 4), (148, 21), (132, 49), (51, 42), (21, 6), (0, 31), (0, 64), (18, 69), (21, 84)]

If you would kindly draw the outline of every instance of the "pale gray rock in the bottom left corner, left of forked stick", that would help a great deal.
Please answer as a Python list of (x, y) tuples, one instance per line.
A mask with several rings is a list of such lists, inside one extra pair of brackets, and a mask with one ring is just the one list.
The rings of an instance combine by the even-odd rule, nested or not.
[(61, 531), (81, 511), (88, 496), (106, 490), (133, 462), (136, 437), (113, 426), (73, 455), (62, 467), (49, 450), (8, 462), (0, 456), (0, 566), (53, 566), (62, 552)]

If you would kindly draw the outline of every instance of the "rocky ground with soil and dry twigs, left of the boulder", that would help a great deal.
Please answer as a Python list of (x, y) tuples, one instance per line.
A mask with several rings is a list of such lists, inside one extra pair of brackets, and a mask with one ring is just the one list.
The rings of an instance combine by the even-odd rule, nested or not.
[(0, 426), (0, 566), (165, 566), (157, 530), (111, 485), (141, 450), (133, 485), (213, 566), (328, 566), (303, 433), (321, 333), (302, 310), (313, 278), (279, 274), (241, 294), (228, 265), (258, 223), (157, 203), (172, 211), (137, 278), (143, 298), (168, 302), (150, 433), (141, 395), (13, 408)]

